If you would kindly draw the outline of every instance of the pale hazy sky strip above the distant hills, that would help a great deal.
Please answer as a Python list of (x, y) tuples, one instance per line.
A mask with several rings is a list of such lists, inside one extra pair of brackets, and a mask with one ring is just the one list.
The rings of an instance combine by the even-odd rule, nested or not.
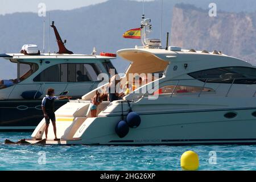
[(38, 12), (39, 3), (45, 3), (47, 10), (71, 10), (83, 6), (94, 5), (105, 1), (108, 0), (0, 0), (0, 15), (16, 12), (36, 13)]

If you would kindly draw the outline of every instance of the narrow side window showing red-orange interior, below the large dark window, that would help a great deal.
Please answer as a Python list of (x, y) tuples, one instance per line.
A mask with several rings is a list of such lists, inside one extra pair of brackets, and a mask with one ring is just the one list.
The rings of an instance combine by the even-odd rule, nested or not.
[[(175, 90), (174, 90), (175, 89)], [(167, 85), (158, 89), (154, 94), (179, 94), (179, 93), (199, 93), (199, 92), (213, 92), (213, 89), (203, 88), (200, 86), (185, 86), (185, 85)]]

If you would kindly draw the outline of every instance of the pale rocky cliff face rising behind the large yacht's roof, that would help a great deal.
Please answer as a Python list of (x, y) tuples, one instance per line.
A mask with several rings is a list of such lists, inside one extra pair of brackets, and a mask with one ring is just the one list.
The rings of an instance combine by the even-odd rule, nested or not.
[(221, 50), (223, 53), (256, 64), (256, 13), (226, 13), (191, 5), (173, 10), (171, 44), (187, 49)]

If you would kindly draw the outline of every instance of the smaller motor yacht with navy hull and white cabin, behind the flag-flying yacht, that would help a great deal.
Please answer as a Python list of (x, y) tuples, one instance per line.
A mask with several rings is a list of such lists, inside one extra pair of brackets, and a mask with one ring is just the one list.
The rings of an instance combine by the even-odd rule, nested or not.
[[(100, 73), (114, 68), (115, 55), (75, 54), (65, 48), (54, 26), (59, 52), (40, 53), (35, 45), (24, 45), (20, 53), (4, 53), (0, 57), (16, 64), (17, 77), (0, 83), (0, 131), (33, 131), (42, 120), (42, 98), (48, 88), (56, 96), (81, 98), (98, 87)], [(55, 102), (55, 109), (68, 100)]]

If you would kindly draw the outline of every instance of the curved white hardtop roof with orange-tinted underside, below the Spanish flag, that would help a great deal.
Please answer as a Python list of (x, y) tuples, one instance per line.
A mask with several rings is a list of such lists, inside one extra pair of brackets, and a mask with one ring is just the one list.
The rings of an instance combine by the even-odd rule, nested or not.
[[(194, 65), (217, 66), (252, 66), (247, 61), (227, 56), (221, 51), (195, 51), (194, 49), (181, 49), (180, 51), (171, 51), (170, 49), (160, 48), (130, 48), (117, 51), (118, 56), (133, 63), (127, 73), (154, 73), (166, 68), (167, 64), (172, 63), (192, 63)], [(146, 71), (146, 72), (145, 72)]]

